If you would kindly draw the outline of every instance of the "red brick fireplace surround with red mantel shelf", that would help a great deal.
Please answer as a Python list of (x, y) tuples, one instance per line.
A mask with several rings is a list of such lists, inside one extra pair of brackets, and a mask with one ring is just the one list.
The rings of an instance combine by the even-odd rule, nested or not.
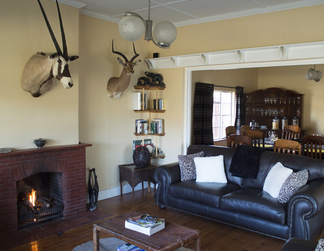
[(63, 218), (86, 212), (86, 147), (44, 147), (0, 154), (0, 235), (18, 231), (17, 181), (38, 173), (58, 173)]

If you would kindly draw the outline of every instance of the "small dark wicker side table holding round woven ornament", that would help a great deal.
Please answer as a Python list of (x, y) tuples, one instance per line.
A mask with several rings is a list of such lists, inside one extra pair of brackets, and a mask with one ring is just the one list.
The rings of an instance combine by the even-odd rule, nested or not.
[[(126, 180), (130, 187), (132, 188), (133, 193), (133, 202), (134, 202), (134, 187), (142, 182), (142, 191), (144, 191), (144, 181), (152, 182), (156, 185), (154, 179), (154, 170), (155, 166), (148, 165), (144, 168), (137, 168), (135, 164), (119, 165), (119, 182), (120, 182), (120, 196), (123, 195), (123, 185), (122, 181)], [(149, 191), (148, 186), (148, 191)], [(155, 196), (155, 186), (154, 186), (154, 196)]]

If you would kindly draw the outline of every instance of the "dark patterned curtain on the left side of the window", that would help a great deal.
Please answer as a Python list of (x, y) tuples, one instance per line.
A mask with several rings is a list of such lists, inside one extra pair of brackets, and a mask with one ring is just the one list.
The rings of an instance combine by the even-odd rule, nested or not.
[(194, 145), (214, 145), (213, 140), (214, 85), (196, 83), (194, 97)]

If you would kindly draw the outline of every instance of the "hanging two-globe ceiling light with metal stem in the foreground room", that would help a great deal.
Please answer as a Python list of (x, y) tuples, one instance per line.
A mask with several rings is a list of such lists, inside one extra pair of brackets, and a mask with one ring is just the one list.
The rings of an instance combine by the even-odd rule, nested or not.
[[(163, 21), (154, 27), (152, 35), (152, 23), (150, 20), (150, 0), (148, 0), (148, 19), (145, 21), (140, 15), (134, 12), (125, 12), (125, 17), (119, 22), (118, 31), (120, 36), (127, 41), (136, 41), (140, 39), (145, 30), (145, 40), (153, 41), (159, 48), (168, 49), (177, 38), (176, 27)], [(155, 40), (154, 40), (155, 38)]]

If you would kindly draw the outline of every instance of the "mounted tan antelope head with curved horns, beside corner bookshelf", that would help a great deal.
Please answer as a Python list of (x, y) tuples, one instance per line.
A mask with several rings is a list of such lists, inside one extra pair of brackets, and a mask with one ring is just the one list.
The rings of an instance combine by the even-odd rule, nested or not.
[(118, 63), (120, 63), (123, 66), (123, 71), (120, 74), (119, 78), (112, 77), (108, 81), (107, 92), (108, 92), (108, 96), (111, 99), (120, 98), (121, 94), (123, 94), (123, 92), (127, 89), (129, 85), (130, 77), (134, 74), (133, 67), (140, 63), (140, 60), (137, 60), (133, 63), (133, 60), (139, 56), (139, 54), (137, 54), (135, 51), (134, 43), (133, 43), (133, 48), (134, 48), (135, 56), (132, 57), (131, 60), (128, 60), (124, 54), (118, 51), (114, 51), (114, 40), (113, 40), (113, 44), (112, 44), (113, 53), (122, 56), (125, 59), (125, 63), (121, 58), (117, 58)]

